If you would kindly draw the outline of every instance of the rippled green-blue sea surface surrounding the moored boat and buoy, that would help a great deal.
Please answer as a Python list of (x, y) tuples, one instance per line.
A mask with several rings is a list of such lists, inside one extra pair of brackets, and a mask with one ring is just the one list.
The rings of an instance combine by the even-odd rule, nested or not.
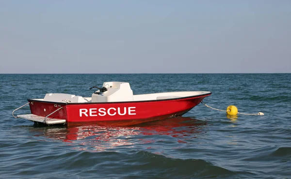
[[(46, 93), (211, 91), (182, 117), (125, 127), (37, 126), (11, 113)], [(29, 107), (16, 114), (30, 113)], [(0, 178), (291, 178), (291, 74), (0, 74)]]

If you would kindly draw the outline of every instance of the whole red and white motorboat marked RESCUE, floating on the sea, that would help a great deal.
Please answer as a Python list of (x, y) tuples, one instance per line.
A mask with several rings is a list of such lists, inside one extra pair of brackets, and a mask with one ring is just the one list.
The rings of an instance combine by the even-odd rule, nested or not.
[(133, 95), (127, 82), (105, 82), (91, 97), (49, 93), (27, 99), (31, 114), (12, 115), (36, 124), (133, 125), (181, 116), (198, 105), (210, 91), (182, 91)]

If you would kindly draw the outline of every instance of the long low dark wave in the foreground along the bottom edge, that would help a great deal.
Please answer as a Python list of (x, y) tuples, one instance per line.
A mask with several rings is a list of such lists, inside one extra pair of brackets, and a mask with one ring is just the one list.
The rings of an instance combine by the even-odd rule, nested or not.
[[(74, 176), (84, 178), (234, 178), (251, 176), (250, 172), (231, 171), (202, 159), (175, 159), (149, 151), (31, 151), (33, 155), (16, 157), (0, 167), (13, 167), (5, 177), (32, 178)], [(16, 162), (13, 163), (13, 162)], [(44, 167), (45, 164), (45, 167)], [(59, 170), (60, 166), (62, 169)], [(21, 169), (17, 169), (21, 168)], [(42, 171), (41, 174), (36, 171)], [(98, 174), (98, 175), (97, 175)]]

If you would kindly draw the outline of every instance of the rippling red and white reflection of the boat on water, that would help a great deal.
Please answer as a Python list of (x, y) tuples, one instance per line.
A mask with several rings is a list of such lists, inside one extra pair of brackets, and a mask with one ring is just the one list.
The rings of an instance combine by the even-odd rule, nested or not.
[(190, 117), (175, 117), (134, 126), (83, 124), (80, 126), (36, 127), (33, 129), (43, 130), (43, 135), (46, 138), (81, 143), (90, 147), (91, 150), (94, 147), (93, 150), (96, 151), (115, 146), (153, 143), (162, 140), (160, 137), (154, 137), (154, 139), (146, 137), (149, 135), (167, 135), (177, 138), (180, 143), (187, 143), (185, 138), (196, 138), (206, 124), (205, 121)]

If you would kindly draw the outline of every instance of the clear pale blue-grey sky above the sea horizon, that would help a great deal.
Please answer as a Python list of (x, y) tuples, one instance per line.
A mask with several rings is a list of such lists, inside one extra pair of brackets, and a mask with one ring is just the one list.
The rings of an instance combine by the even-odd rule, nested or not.
[(290, 73), (291, 0), (0, 0), (0, 73)]

